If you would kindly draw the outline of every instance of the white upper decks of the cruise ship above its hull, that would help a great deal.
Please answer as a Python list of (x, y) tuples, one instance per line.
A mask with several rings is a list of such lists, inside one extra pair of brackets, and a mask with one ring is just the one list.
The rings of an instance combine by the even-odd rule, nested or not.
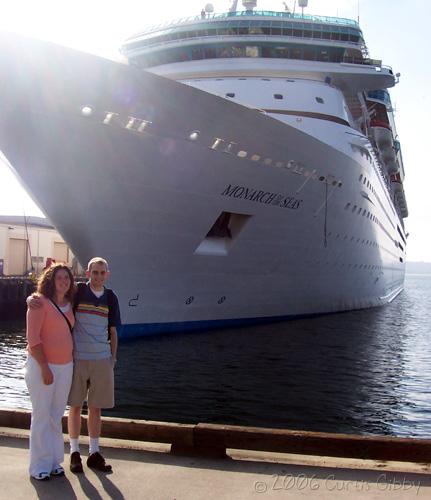
[[(255, 1), (236, 11), (237, 3), (226, 13), (202, 11), (200, 17), (151, 27), (129, 38), (122, 53), (132, 65), (292, 126), (305, 117), (356, 129), (370, 140), (401, 218), (407, 217), (400, 142), (386, 90), (396, 77), (369, 57), (359, 24), (303, 9), (255, 11)], [(316, 131), (312, 120), (302, 129), (307, 125)]]

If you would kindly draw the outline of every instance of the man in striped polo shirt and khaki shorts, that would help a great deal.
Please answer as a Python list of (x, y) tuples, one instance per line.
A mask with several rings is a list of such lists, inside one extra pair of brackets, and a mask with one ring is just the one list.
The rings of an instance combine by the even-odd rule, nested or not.
[(114, 366), (117, 358), (117, 327), (120, 326), (118, 299), (105, 288), (109, 277), (108, 263), (94, 257), (87, 266), (87, 284), (78, 285), (75, 298), (74, 370), (69, 394), (68, 429), (70, 437), (70, 470), (82, 472), (79, 450), (81, 408), (88, 404), (90, 450), (87, 466), (102, 472), (112, 467), (105, 463), (99, 450), (102, 408), (114, 406)]

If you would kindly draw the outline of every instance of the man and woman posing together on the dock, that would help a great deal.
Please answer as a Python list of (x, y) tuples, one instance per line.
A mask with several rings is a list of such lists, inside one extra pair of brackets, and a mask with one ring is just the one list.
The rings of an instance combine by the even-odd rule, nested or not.
[(90, 260), (89, 281), (74, 284), (70, 269), (56, 264), (38, 281), (28, 299), (28, 360), (25, 380), (30, 393), (30, 476), (48, 480), (64, 474), (61, 419), (70, 405), (70, 470), (82, 472), (79, 452), (81, 407), (88, 402), (90, 450), (87, 466), (110, 472), (100, 454), (101, 409), (114, 406), (114, 365), (120, 310), (114, 292), (105, 288), (108, 263)]

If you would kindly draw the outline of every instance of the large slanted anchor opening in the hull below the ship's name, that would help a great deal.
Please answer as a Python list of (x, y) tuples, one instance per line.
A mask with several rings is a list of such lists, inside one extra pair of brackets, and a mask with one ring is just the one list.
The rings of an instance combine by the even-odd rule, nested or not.
[(228, 255), (250, 218), (251, 215), (247, 214), (221, 212), (194, 253), (219, 257)]

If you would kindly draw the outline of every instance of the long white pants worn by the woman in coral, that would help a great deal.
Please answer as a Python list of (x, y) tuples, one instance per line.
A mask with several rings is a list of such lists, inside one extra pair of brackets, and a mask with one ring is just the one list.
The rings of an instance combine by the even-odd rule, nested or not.
[(50, 473), (64, 460), (64, 441), (61, 417), (66, 408), (72, 383), (73, 362), (49, 367), (54, 382), (45, 385), (39, 363), (28, 356), (25, 381), (30, 393), (32, 413), (30, 427), (31, 476), (40, 472)]

